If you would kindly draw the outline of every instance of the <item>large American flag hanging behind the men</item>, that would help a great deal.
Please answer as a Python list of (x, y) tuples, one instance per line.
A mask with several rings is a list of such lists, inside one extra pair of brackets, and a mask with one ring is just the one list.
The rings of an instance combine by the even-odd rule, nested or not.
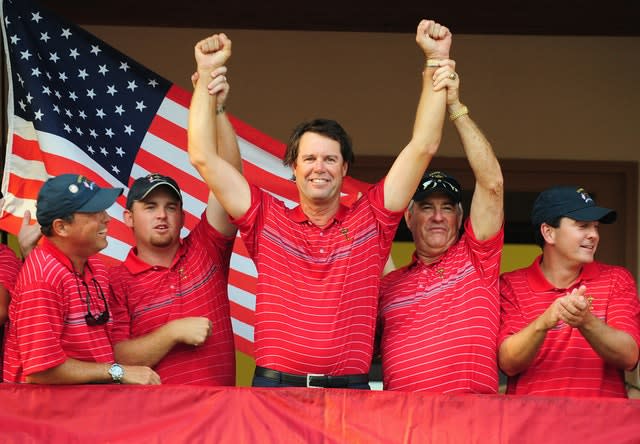
[[(8, 136), (0, 229), (17, 233), (24, 211), (35, 214), (38, 190), (50, 176), (83, 174), (100, 186), (124, 187), (150, 172), (180, 184), (188, 234), (205, 208), (208, 189), (187, 156), (191, 93), (173, 85), (84, 29), (32, 0), (2, 0), (7, 58)], [(189, 73), (185, 73), (188, 75)], [(296, 204), (284, 145), (230, 116), (247, 179)], [(343, 193), (364, 184), (348, 178)], [(123, 260), (133, 243), (122, 222), (124, 197), (109, 209), (108, 263)], [(236, 348), (253, 355), (256, 269), (237, 239), (229, 298)]]

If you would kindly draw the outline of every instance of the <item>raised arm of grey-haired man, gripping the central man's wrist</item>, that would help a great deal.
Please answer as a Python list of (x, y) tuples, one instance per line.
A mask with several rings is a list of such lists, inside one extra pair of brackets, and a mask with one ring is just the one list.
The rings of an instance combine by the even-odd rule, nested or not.
[(502, 170), (491, 144), (460, 102), (460, 76), (455, 62), (446, 60), (436, 73), (436, 89), (446, 85), (447, 109), (458, 131), (464, 152), (473, 170), (476, 184), (471, 200), (471, 225), (477, 239), (493, 237), (504, 220), (504, 184)]

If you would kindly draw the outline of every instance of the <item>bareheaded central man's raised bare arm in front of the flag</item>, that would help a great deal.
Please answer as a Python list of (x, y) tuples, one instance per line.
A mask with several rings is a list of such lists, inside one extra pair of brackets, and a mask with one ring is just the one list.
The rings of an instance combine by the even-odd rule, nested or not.
[(218, 96), (209, 94), (205, 80), (216, 68), (222, 67), (230, 55), (231, 41), (224, 34), (208, 37), (195, 46), (199, 78), (189, 108), (189, 158), (226, 213), (238, 218), (249, 209), (251, 192), (242, 174), (218, 153), (218, 131), (224, 132), (224, 122), (219, 129), (218, 117), (212, 118)]

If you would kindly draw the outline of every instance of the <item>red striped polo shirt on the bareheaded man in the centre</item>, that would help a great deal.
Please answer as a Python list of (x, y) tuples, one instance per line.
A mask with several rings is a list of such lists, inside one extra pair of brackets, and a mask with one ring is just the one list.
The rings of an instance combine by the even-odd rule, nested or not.
[(256, 364), (295, 373), (368, 373), (378, 287), (402, 212), (384, 208), (384, 181), (325, 227), (300, 207), (251, 188), (235, 221), (256, 263)]

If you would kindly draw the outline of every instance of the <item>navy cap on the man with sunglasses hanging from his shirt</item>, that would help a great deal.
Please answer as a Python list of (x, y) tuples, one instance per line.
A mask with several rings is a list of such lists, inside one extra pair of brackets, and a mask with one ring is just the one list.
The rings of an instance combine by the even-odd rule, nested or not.
[(78, 174), (61, 174), (45, 182), (38, 193), (36, 218), (42, 226), (73, 213), (97, 213), (109, 208), (122, 188), (100, 188)]

